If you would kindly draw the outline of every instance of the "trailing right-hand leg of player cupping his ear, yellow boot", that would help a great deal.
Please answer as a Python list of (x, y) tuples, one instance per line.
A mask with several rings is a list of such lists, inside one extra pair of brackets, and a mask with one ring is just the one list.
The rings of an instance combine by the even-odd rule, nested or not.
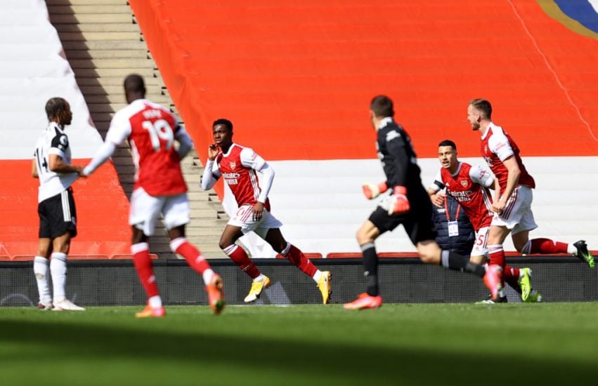
[(296, 246), (290, 244), (282, 237), (282, 233), (278, 228), (268, 229), (266, 233), (266, 242), (272, 246), (274, 251), (280, 253), (287, 260), (293, 263), (293, 265), (310, 276), (313, 281), (316, 281), (316, 286), (320, 290), (322, 295), (323, 304), (330, 302), (330, 293), (332, 293), (331, 280), (332, 275), (330, 271), (320, 271), (308, 258), (305, 257), (303, 252)]

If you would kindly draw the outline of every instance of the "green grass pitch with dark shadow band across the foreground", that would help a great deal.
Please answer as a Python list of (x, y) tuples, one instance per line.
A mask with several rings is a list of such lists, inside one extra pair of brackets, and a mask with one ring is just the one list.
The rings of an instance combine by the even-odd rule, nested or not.
[(2, 385), (596, 385), (598, 302), (0, 308)]

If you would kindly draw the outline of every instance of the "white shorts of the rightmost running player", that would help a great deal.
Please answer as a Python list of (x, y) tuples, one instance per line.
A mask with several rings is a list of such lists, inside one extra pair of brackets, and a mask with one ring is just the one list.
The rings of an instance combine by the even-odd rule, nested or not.
[(511, 234), (537, 228), (538, 225), (535, 223), (531, 211), (532, 201), (531, 187), (519, 185), (507, 200), (507, 206), (502, 210), (502, 213), (500, 215), (494, 213), (491, 225), (507, 227), (511, 230)]

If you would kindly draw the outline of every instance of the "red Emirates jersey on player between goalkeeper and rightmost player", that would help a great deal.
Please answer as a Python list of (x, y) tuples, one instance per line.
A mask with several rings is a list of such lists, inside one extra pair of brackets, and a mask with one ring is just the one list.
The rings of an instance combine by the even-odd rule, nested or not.
[[(490, 206), (492, 199), (487, 187), (493, 184), (492, 173), (479, 166), (472, 166), (460, 162), (455, 174), (450, 174), (448, 169), (441, 168), (436, 176), (438, 185), (446, 187), (447, 194), (455, 197), (455, 200), (461, 204), (465, 214), (469, 217), (476, 232), (489, 227), (492, 222), (492, 212)], [(436, 188), (434, 188), (436, 190)]]

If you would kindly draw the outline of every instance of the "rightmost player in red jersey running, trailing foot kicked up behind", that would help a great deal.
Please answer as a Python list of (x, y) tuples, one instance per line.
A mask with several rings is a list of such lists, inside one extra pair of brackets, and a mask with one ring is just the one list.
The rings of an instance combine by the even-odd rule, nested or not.
[(523, 254), (569, 253), (594, 267), (594, 257), (584, 240), (566, 244), (550, 239), (529, 239), (535, 224), (531, 211), (535, 182), (526, 170), (511, 136), (492, 121), (492, 105), (488, 100), (474, 99), (467, 106), (467, 120), (473, 131), (481, 134), (481, 154), (495, 178), (495, 199), (491, 206), (492, 225), (488, 234), (490, 261), (505, 266), (502, 243), (509, 233), (517, 251)]

